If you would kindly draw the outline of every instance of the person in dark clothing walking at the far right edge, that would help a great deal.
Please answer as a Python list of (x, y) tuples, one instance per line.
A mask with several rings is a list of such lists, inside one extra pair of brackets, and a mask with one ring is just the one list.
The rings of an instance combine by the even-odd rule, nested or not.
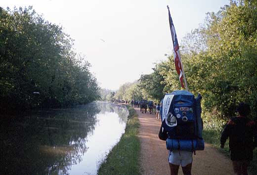
[(253, 160), (253, 150), (257, 146), (256, 122), (249, 119), (250, 105), (244, 102), (237, 107), (238, 116), (229, 119), (220, 138), (220, 147), (229, 137), (230, 159), (235, 175), (248, 175), (247, 168)]

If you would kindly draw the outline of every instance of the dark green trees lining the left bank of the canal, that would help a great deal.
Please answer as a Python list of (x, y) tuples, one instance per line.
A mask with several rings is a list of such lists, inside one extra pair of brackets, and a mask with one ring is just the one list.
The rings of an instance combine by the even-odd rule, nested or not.
[(32, 7), (0, 8), (1, 110), (97, 99), (99, 88), (90, 64), (72, 46), (61, 27), (45, 21)]

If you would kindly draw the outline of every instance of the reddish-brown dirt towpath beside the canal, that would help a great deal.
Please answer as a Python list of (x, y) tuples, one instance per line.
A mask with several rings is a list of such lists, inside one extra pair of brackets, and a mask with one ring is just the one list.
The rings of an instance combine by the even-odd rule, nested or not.
[[(158, 137), (161, 120), (156, 119), (154, 114), (142, 114), (139, 108), (135, 109), (140, 122), (142, 175), (170, 175), (166, 142)], [(181, 167), (178, 175), (183, 175)], [(233, 175), (232, 163), (206, 143), (204, 151), (193, 155), (192, 175)]]

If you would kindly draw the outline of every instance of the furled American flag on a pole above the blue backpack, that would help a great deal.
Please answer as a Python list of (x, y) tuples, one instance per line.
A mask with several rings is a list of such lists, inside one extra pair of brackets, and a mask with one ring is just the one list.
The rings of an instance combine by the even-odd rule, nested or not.
[(180, 58), (180, 54), (179, 54), (179, 46), (178, 46), (178, 42), (177, 42), (177, 36), (176, 36), (176, 31), (174, 28), (174, 24), (171, 18), (171, 12), (170, 12), (170, 8), (167, 5), (168, 10), (169, 10), (169, 22), (170, 22), (170, 29), (171, 29), (171, 37), (172, 37), (172, 42), (173, 42), (173, 49), (174, 49), (174, 62), (175, 62), (175, 68), (177, 71), (177, 74), (179, 75), (179, 81), (180, 84), (182, 86), (182, 88), (184, 87), (183, 84), (183, 76), (182, 76), (182, 63), (181, 63), (181, 58)]

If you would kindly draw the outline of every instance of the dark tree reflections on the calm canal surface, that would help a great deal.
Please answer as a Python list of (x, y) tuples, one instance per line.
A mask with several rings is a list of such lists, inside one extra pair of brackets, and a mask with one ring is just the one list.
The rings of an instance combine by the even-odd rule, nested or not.
[(0, 174), (68, 174), (72, 165), (82, 161), (96, 114), (106, 112), (117, 113), (120, 123), (127, 122), (126, 107), (97, 102), (1, 123)]

